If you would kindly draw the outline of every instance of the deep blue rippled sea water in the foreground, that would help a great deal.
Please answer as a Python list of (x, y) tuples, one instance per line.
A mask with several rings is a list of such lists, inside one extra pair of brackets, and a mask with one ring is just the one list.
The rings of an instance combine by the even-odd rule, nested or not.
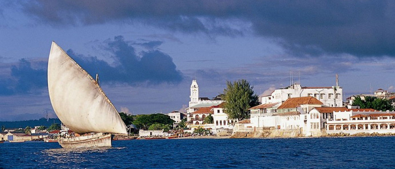
[(57, 143), (0, 144), (0, 168), (395, 168), (395, 137), (161, 139), (112, 148)]

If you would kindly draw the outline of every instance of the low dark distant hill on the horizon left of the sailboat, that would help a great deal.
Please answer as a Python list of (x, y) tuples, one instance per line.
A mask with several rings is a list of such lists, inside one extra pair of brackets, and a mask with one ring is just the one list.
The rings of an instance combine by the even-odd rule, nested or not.
[(26, 126), (34, 127), (43, 125), (45, 127), (49, 127), (53, 123), (60, 124), (60, 120), (58, 118), (40, 118), (39, 120), (25, 120), (25, 121), (15, 121), (15, 122), (0, 122), (0, 127), (4, 125), (6, 129), (13, 129), (13, 128), (25, 128)]

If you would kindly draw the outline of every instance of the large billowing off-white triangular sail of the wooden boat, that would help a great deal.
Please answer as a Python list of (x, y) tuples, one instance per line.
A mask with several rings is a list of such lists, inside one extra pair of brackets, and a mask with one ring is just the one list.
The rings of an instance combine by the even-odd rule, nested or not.
[(100, 86), (55, 42), (48, 59), (48, 91), (56, 115), (75, 133), (126, 134), (125, 123)]

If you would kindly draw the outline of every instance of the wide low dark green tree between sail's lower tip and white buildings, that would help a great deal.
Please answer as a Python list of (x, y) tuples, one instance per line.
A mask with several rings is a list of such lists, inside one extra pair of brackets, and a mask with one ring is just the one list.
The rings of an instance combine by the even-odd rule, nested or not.
[(133, 124), (140, 129), (148, 129), (148, 127), (154, 123), (173, 125), (174, 120), (171, 120), (170, 116), (166, 114), (140, 114), (136, 116)]

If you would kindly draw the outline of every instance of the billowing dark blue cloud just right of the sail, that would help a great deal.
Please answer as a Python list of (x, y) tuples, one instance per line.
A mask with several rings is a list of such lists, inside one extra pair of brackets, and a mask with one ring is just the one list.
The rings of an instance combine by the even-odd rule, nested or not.
[[(182, 73), (177, 70), (173, 59), (166, 53), (149, 50), (141, 52), (141, 56), (137, 55), (135, 48), (125, 42), (122, 36), (116, 36), (114, 40), (106, 40), (105, 43), (105, 50), (113, 54), (116, 66), (111, 66), (97, 57), (78, 55), (72, 50), (68, 50), (67, 53), (92, 77), (98, 73), (101, 82), (136, 85), (145, 82), (178, 84), (182, 81)], [(154, 41), (147, 42), (143, 46), (152, 48), (160, 44), (161, 42)]]

